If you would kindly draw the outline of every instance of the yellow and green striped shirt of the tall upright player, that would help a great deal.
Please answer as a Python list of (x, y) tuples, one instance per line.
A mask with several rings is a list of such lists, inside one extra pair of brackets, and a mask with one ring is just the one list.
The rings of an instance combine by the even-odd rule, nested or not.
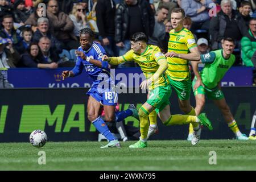
[[(196, 40), (192, 32), (187, 28), (183, 28), (178, 32), (175, 32), (174, 29), (170, 31), (168, 52), (188, 53), (189, 49), (196, 46)], [(167, 57), (167, 62), (167, 74), (172, 80), (182, 81), (190, 78), (188, 60), (180, 59), (178, 57)]]

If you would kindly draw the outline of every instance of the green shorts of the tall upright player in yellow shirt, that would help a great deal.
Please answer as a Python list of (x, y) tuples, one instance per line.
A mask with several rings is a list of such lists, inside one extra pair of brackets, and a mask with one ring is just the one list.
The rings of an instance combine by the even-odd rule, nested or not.
[(180, 100), (189, 100), (190, 93), (191, 93), (191, 80), (184, 80), (184, 81), (176, 81), (172, 80), (170, 76), (168, 76), (168, 79), (174, 88), (174, 90), (177, 93), (177, 96), (179, 97)]

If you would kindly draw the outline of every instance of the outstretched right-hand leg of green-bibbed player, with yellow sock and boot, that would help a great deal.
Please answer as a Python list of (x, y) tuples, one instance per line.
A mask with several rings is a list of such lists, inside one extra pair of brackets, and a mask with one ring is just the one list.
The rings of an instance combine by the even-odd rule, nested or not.
[(236, 135), (236, 138), (238, 140), (247, 140), (245, 134), (242, 134), (240, 130), (238, 129), (237, 122), (235, 121), (233, 114), (231, 113), (228, 104), (226, 104), (225, 98), (222, 98), (221, 100), (213, 100), (214, 104), (218, 106), (218, 108), (221, 110), (221, 113), (226, 121), (228, 123), (228, 126), (230, 130), (233, 131), (233, 133)]

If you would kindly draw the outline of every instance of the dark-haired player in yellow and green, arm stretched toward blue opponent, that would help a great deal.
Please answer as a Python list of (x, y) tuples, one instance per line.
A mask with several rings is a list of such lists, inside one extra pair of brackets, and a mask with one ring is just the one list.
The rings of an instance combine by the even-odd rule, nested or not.
[(102, 60), (110, 64), (121, 64), (125, 61), (134, 60), (142, 69), (146, 80), (141, 83), (141, 88), (150, 90), (150, 96), (139, 109), (141, 137), (138, 142), (130, 145), (130, 148), (147, 147), (148, 115), (156, 111), (164, 125), (184, 125), (188, 123), (200, 123), (212, 130), (212, 124), (204, 113), (199, 116), (181, 115), (170, 113), (169, 97), (171, 96), (171, 85), (168, 81), (166, 70), (168, 68), (166, 57), (160, 52), (159, 47), (147, 45), (147, 36), (137, 32), (131, 36), (131, 50), (119, 57), (108, 57), (104, 55)]

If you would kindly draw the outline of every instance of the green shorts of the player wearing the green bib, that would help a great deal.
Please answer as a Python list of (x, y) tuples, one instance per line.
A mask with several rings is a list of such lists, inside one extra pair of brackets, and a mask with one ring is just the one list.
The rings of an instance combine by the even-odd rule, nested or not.
[[(192, 88), (196, 84), (196, 79), (194, 78), (192, 82)], [(199, 88), (197, 88), (194, 92), (194, 95), (196, 96), (197, 94), (204, 94), (206, 95), (210, 100), (221, 100), (224, 98), (223, 92), (218, 88), (214, 89), (207, 89), (204, 86), (200, 85)]]

